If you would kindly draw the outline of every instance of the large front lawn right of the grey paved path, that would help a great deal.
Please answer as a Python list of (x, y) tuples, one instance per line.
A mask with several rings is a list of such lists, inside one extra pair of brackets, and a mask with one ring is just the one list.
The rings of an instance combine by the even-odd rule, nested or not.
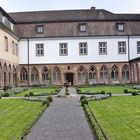
[(140, 96), (89, 102), (110, 140), (140, 140)]

